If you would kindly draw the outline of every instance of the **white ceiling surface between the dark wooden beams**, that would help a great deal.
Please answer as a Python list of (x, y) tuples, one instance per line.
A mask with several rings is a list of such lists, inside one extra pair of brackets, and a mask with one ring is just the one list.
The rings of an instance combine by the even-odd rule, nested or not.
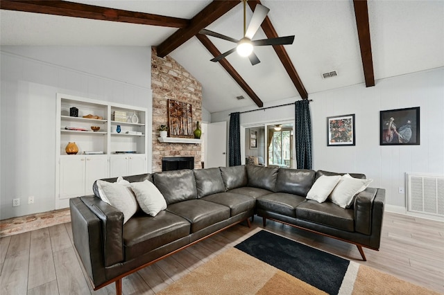
[[(210, 3), (205, 1), (75, 1), (137, 12), (191, 19)], [(364, 83), (359, 41), (352, 1), (272, 1), (268, 17), (280, 36), (296, 35), (285, 46), (309, 93)], [(242, 5), (208, 26), (223, 35), (240, 39)], [(375, 80), (444, 66), (444, 1), (369, 1), (368, 13)], [(247, 8), (247, 22), (253, 12)], [(125, 24), (112, 21), (59, 17), (1, 10), (1, 45), (156, 46), (175, 28)], [(264, 39), (262, 29), (254, 39)], [(233, 44), (210, 37), (224, 52)], [(299, 94), (271, 46), (255, 48), (261, 63), (251, 66), (236, 53), (227, 57), (247, 84), (264, 102)], [(210, 112), (254, 107), (246, 93), (196, 37), (171, 54), (203, 86), (203, 107)], [(338, 71), (323, 80), (321, 73)], [(363, 85), (364, 87), (364, 85)], [(377, 87), (377, 81), (376, 81)], [(245, 100), (237, 100), (236, 96)]]

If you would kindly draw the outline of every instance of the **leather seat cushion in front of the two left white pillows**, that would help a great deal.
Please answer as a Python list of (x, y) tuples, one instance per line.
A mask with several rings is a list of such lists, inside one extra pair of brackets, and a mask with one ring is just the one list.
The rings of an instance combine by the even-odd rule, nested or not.
[(123, 226), (125, 259), (137, 258), (183, 238), (189, 235), (190, 228), (187, 220), (167, 211), (160, 211), (155, 217), (135, 215)]

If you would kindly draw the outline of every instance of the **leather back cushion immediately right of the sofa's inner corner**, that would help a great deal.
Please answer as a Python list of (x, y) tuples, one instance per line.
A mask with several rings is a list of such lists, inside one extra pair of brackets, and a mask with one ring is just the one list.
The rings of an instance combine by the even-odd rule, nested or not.
[(276, 191), (279, 168), (247, 165), (248, 186)]

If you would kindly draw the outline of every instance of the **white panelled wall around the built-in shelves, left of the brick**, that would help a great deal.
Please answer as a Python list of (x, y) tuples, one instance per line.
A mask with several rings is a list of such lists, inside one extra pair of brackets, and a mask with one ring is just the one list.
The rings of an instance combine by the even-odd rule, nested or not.
[(0, 57), (1, 220), (55, 209), (56, 93), (146, 107), (151, 126), (150, 47), (2, 46)]

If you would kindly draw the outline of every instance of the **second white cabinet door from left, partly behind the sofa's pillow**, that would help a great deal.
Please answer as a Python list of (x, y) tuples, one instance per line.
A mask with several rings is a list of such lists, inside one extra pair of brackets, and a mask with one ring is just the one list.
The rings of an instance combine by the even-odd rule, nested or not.
[(85, 157), (85, 195), (93, 195), (92, 184), (97, 179), (108, 178), (110, 166), (108, 156), (87, 156)]

